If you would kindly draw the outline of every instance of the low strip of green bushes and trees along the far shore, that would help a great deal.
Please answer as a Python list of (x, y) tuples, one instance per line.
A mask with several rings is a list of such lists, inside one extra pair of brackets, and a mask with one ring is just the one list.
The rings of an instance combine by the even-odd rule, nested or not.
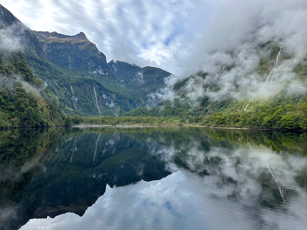
[(261, 107), (252, 112), (208, 116), (66, 117), (65, 125), (202, 125), (231, 128), (307, 130), (307, 103)]

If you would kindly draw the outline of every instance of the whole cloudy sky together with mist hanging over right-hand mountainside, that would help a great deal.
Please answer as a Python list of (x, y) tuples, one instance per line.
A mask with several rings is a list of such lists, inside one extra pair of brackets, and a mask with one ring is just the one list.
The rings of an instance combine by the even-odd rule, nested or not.
[[(165, 79), (167, 87), (151, 95), (152, 101), (179, 97), (172, 86), (185, 78), (189, 79), (181, 93), (191, 102), (204, 96), (252, 99), (280, 91), (306, 93), (293, 73), (307, 53), (304, 0), (55, 0), (19, 1), (17, 6), (4, 0), (2, 4), (31, 29), (85, 32), (108, 60), (180, 74)], [(275, 57), (263, 71), (259, 64), (268, 59), (271, 47), (280, 46), (281, 60), (264, 87)]]

